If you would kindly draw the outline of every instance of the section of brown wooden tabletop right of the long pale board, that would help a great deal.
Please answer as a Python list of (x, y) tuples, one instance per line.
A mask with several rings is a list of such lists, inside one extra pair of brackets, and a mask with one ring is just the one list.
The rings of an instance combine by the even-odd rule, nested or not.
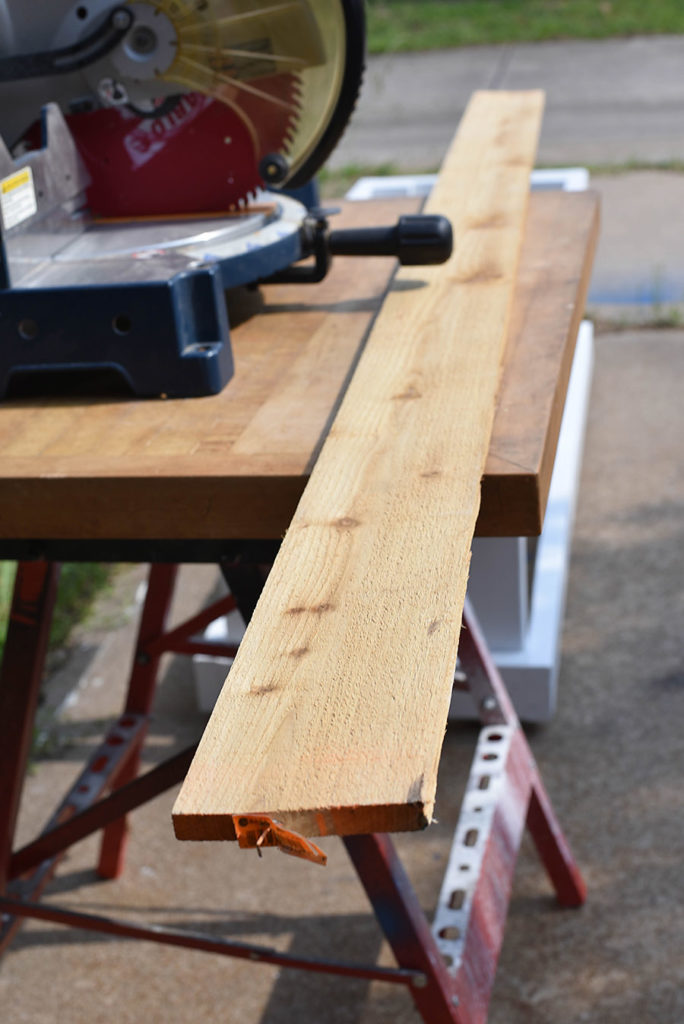
[(542, 531), (598, 240), (595, 193), (558, 190), (531, 199), (482, 477), (478, 537)]

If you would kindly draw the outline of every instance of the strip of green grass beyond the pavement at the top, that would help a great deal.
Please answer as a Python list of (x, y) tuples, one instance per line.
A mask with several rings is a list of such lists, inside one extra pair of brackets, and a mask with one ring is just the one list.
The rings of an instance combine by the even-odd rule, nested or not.
[(369, 50), (684, 33), (681, 0), (367, 0)]

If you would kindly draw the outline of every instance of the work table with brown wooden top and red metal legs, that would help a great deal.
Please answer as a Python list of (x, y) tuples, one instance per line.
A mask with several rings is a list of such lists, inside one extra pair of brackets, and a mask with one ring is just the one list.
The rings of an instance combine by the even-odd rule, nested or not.
[[(381, 223), (413, 209), (415, 203), (407, 200), (347, 204), (340, 220)], [(596, 242), (597, 210), (591, 193), (531, 197), (482, 480), (480, 536), (536, 536), (541, 530)], [(39, 900), (61, 852), (99, 829), (103, 839), (98, 871), (117, 876), (123, 866), (125, 815), (183, 777), (191, 751), (136, 778), (160, 657), (169, 650), (225, 653), (224, 646), (195, 637), (234, 602), (249, 617), (390, 274), (385, 260), (339, 261), (324, 283), (308, 290), (264, 289), (263, 307), (232, 333), (237, 372), (220, 395), (0, 406), (0, 557), (19, 561), (0, 675), (0, 948), (10, 941), (22, 916), (34, 916), (394, 982), (410, 987), (426, 1022), (465, 1024), (485, 1019), (525, 822), (560, 901), (582, 901), (582, 880), (472, 617), (466, 621), (462, 668), (465, 685), (476, 695), (482, 721), (490, 729), (476, 752), (469, 785), (481, 785), (478, 759), (488, 762), (497, 751), (499, 766), (486, 777), (493, 788), (498, 780), (515, 791), (516, 811), (511, 822), (503, 796), (494, 802), (472, 885), (445, 881), (434, 931), (389, 839), (345, 840), (394, 948), (398, 970), (303, 961), (241, 943), (89, 918)], [(57, 808), (48, 830), (15, 850), (14, 827), (57, 565), (65, 560), (151, 562), (149, 586), (121, 718)], [(191, 561), (218, 562), (231, 596), (184, 626), (167, 630), (176, 565)], [(109, 791), (112, 795), (102, 799)], [(455, 849), (470, 843), (472, 829), (466, 824), (457, 830)], [(503, 896), (495, 885), (502, 878)], [(472, 898), (474, 908), (466, 934), (450, 934), (458, 930), (440, 924), (439, 913), (458, 910), (459, 899), (463, 903), (466, 897), (469, 904)], [(444, 957), (457, 946), (458, 970), (450, 972)]]

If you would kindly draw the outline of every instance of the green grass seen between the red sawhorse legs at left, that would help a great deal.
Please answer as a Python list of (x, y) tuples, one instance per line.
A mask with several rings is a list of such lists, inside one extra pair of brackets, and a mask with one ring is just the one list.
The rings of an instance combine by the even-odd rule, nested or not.
[[(0, 656), (7, 631), (7, 616), (14, 584), (14, 562), (0, 562)], [(61, 566), (57, 602), (50, 629), (50, 647), (62, 647), (77, 623), (87, 614), (96, 595), (108, 585), (112, 566), (68, 562)]]

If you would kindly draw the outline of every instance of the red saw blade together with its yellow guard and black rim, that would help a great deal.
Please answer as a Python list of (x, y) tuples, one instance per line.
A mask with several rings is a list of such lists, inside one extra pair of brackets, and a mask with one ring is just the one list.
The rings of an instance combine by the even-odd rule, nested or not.
[(55, 10), (52, 46), (122, 6), (132, 26), (103, 57), (31, 83), (68, 116), (95, 213), (231, 209), (264, 175), (295, 187), (315, 173), (358, 91), (362, 0), (73, 2)]

